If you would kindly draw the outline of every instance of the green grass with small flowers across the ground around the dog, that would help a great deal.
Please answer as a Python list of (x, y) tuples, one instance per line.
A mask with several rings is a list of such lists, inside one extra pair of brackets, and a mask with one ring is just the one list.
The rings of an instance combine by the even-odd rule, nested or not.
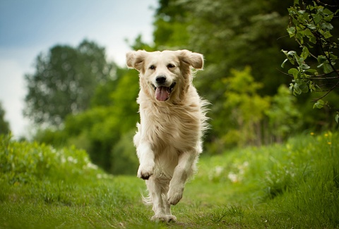
[(0, 228), (339, 228), (338, 133), (203, 155), (155, 223), (143, 180), (107, 175), (85, 151), (0, 137)]

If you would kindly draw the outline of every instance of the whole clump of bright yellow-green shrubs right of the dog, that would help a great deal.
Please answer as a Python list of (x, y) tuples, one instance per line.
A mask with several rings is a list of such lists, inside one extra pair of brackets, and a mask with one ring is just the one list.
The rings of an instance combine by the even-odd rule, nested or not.
[(221, 108), (216, 109), (221, 111), (218, 116), (222, 118), (210, 120), (213, 139), (208, 144), (208, 151), (213, 154), (221, 153), (225, 146), (283, 142), (299, 130), (302, 113), (297, 109), (296, 98), (285, 85), (280, 85), (273, 97), (258, 94), (263, 83), (254, 80), (249, 66), (244, 70), (232, 69), (231, 75), (220, 83), (225, 87), (225, 93), (220, 97)]

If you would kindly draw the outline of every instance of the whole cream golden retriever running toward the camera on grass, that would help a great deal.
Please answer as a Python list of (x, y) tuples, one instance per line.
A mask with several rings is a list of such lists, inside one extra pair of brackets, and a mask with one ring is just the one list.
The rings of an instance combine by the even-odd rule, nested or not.
[(137, 176), (149, 192), (143, 200), (153, 204), (152, 221), (175, 222), (171, 204), (182, 199), (186, 180), (196, 171), (207, 128), (208, 102), (192, 85), (192, 68), (203, 68), (203, 55), (138, 50), (126, 54), (126, 63), (140, 73), (141, 122), (133, 142), (140, 162)]

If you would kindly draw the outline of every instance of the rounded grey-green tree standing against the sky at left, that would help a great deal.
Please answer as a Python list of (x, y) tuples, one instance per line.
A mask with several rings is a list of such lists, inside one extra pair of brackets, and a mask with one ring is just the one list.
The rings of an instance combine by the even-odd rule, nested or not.
[(70, 113), (88, 109), (97, 85), (114, 76), (105, 48), (84, 40), (78, 47), (57, 45), (37, 56), (35, 73), (26, 74), (24, 115), (34, 123), (58, 127)]

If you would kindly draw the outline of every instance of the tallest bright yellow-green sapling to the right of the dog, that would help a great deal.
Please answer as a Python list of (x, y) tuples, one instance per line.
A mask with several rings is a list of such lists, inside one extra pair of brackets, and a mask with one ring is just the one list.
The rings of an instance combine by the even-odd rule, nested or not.
[[(261, 97), (257, 93), (263, 84), (254, 82), (249, 67), (242, 71), (231, 70), (231, 76), (222, 82), (226, 89), (223, 110), (229, 113), (232, 126), (224, 133), (225, 143), (238, 146), (261, 144), (261, 122), (270, 107), (270, 97)], [(221, 124), (219, 126), (223, 127)]]

